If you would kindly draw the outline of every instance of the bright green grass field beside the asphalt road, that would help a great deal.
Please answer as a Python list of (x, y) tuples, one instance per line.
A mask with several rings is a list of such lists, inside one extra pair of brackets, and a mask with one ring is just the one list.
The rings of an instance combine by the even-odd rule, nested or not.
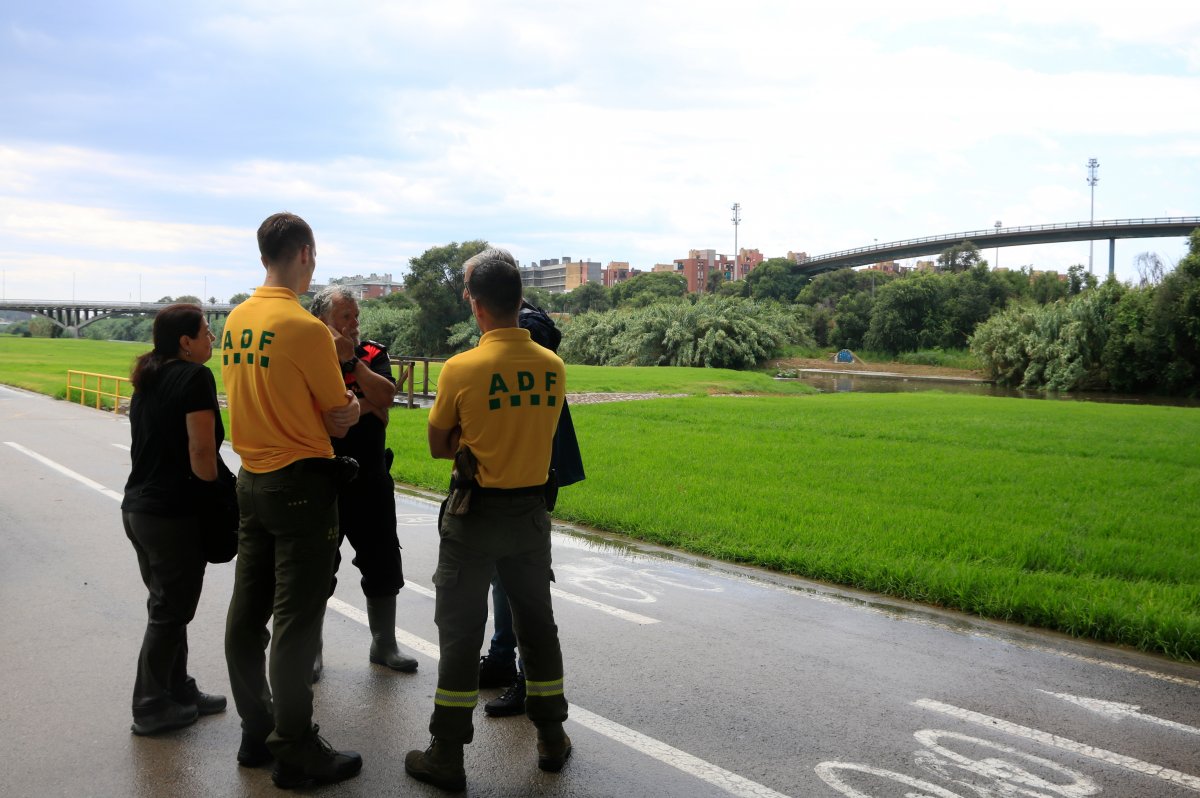
[[(0, 382), (52, 394), (66, 368), (125, 373), (143, 350), (17, 341), (0, 337)], [(572, 392), (689, 396), (572, 407), (588, 479), (562, 491), (560, 518), (1200, 660), (1200, 409), (725, 398), (710, 394), (794, 384), (688, 368), (571, 367), (568, 379)], [(427, 418), (392, 412), (394, 473), (440, 491), (450, 463), (430, 458)]]

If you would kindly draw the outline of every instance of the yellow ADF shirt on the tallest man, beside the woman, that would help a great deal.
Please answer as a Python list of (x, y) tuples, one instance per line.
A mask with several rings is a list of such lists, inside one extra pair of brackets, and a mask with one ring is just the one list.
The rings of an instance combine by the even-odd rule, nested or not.
[(221, 342), (229, 437), (246, 470), (332, 457), (322, 412), (346, 403), (334, 337), (287, 288), (259, 286), (233, 308)]

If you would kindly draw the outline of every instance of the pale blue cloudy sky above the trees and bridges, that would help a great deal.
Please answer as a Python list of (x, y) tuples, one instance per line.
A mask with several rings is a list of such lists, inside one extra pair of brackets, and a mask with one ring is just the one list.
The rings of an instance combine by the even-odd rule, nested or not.
[[(979, 5), (0, 0), (0, 293), (224, 301), (280, 210), (317, 283), (1200, 216), (1200, 4)], [(1118, 278), (1142, 252), (1187, 242), (1117, 241)]]

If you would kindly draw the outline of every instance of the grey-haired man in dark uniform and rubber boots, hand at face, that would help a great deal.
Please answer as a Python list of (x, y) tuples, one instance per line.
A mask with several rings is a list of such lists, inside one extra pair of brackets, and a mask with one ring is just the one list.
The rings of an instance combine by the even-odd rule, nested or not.
[[(359, 463), (359, 475), (337, 493), (337, 517), (342, 536), (349, 538), (354, 546), (354, 564), (362, 574), (360, 584), (371, 626), (368, 659), (376, 665), (412, 673), (416, 671), (416, 660), (402, 654), (396, 643), (396, 594), (404, 587), (404, 572), (396, 536), (391, 450), (385, 438), (388, 412), (396, 396), (391, 358), (382, 343), (359, 341), (359, 302), (346, 286), (320, 289), (308, 312), (334, 334), (346, 388), (354, 391), (362, 407), (362, 415), (346, 437), (334, 438), (334, 454), (353, 457)], [(341, 559), (338, 553), (335, 574)], [(320, 662), (319, 654), (317, 661)], [(319, 672), (318, 665), (314, 676)]]

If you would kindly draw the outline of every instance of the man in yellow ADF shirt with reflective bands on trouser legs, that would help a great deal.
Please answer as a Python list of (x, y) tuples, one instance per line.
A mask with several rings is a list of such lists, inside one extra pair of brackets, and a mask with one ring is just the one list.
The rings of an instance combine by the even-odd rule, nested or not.
[[(562, 359), (517, 326), (521, 274), (503, 250), (484, 253), (467, 283), (482, 337), (442, 367), (430, 410), (430, 454), (474, 455), (468, 506), (445, 512), (434, 622), (442, 659), (425, 751), (409, 751), (409, 775), (444, 790), (463, 790), (462, 748), (474, 736), (479, 649), (487, 624), (487, 590), (498, 572), (509, 594), (526, 665), (529, 719), (538, 727), (538, 767), (557, 772), (571, 752), (563, 731), (563, 654), (550, 598), (550, 514), (545, 488), (551, 442), (566, 388)], [(467, 460), (463, 457), (462, 460)], [(460, 475), (458, 479), (462, 479)]]

